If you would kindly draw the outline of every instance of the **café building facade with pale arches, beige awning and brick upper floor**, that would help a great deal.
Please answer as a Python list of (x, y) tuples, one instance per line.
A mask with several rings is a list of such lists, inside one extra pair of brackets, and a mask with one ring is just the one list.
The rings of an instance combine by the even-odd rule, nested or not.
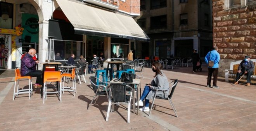
[(45, 61), (48, 36), (62, 59), (70, 54), (91, 59), (100, 52), (111, 58), (111, 52), (128, 54), (135, 40), (149, 40), (132, 18), (140, 14), (138, 0), (5, 0), (0, 6), (0, 67), (5, 69), (20, 67), (30, 48)]

